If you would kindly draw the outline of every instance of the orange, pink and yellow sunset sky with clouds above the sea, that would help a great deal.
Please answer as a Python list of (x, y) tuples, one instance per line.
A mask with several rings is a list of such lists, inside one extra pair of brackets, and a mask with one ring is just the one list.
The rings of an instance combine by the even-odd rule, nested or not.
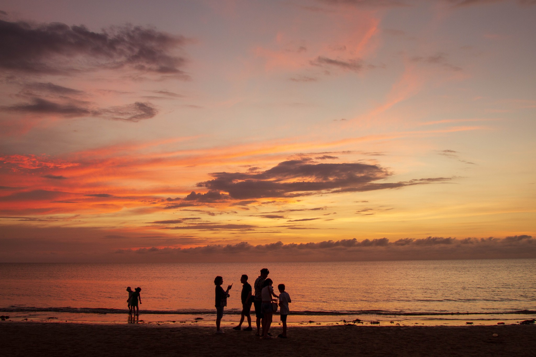
[(536, 256), (534, 0), (0, 10), (0, 261)]

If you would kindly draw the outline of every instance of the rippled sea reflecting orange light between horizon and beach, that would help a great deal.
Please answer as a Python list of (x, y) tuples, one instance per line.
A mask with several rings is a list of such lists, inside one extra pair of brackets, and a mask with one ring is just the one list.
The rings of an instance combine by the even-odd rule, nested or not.
[[(0, 263), (0, 311), (85, 314), (126, 312), (128, 293), (142, 287), (140, 313), (212, 316), (214, 277), (233, 284), (227, 318), (241, 309), (240, 276), (253, 285), (260, 268), (291, 295), (291, 314), (307, 321), (418, 318), (520, 319), (536, 314), (536, 260), (298, 263)], [(44, 314), (44, 315), (43, 315)], [(229, 314), (231, 317), (229, 317)], [(461, 317), (460, 317), (461, 315)], [(31, 316), (31, 315), (18, 315)], [(37, 315), (35, 315), (37, 316)], [(172, 318), (172, 317), (167, 318)], [(300, 317), (299, 316), (303, 316)], [(362, 317), (360, 317), (362, 316)], [(62, 317), (63, 318), (63, 317)], [(106, 320), (106, 319), (105, 319)], [(106, 321), (114, 318), (107, 317)], [(121, 321), (123, 317), (121, 317)], [(209, 318), (210, 320), (210, 318)]]

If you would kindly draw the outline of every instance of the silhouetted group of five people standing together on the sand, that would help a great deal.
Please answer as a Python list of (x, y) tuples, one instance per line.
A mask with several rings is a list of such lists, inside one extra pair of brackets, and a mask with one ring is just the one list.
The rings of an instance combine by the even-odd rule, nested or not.
[[(268, 278), (270, 271), (266, 268), (260, 269), (260, 275), (255, 280), (255, 293), (252, 294), (251, 285), (248, 283), (248, 276), (242, 275), (240, 282), (242, 283), (242, 313), (240, 316), (240, 323), (233, 328), (233, 330), (241, 330), (244, 318), (248, 320), (248, 327), (244, 331), (251, 331), (251, 304), (255, 306), (255, 316), (257, 318), (257, 333), (256, 336), (261, 338), (272, 338), (270, 326), (272, 324), (273, 313), (277, 311), (277, 307), (280, 307), (281, 324), (283, 326), (283, 332), (278, 335), (279, 338), (287, 338), (287, 316), (289, 313), (288, 303), (291, 302), (290, 295), (285, 291), (285, 284), (279, 284), (279, 295), (273, 291), (273, 281)], [(216, 308), (216, 333), (224, 333), (220, 329), (221, 318), (224, 315), (224, 307), (227, 306), (227, 298), (229, 297), (229, 290), (233, 287), (233, 284), (227, 286), (227, 290), (221, 287), (224, 283), (224, 278), (217, 276), (214, 279), (214, 285), (216, 285), (215, 295), (215, 308)], [(274, 299), (275, 298), (275, 299)], [(277, 302), (279, 300), (279, 303)], [(261, 330), (262, 328), (262, 330)]]

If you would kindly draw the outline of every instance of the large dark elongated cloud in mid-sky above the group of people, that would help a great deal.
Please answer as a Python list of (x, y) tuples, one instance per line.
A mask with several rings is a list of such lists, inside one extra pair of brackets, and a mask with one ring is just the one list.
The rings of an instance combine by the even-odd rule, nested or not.
[(198, 187), (228, 192), (239, 200), (259, 198), (291, 198), (328, 192), (364, 192), (430, 183), (437, 179), (410, 182), (374, 183), (386, 179), (391, 172), (379, 165), (363, 163), (315, 163), (310, 158), (281, 162), (259, 172), (214, 172), (214, 179), (198, 183)]

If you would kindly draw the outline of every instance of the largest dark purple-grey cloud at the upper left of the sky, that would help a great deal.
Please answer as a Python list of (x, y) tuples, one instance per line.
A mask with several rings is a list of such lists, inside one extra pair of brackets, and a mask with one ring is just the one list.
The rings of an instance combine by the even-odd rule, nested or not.
[(185, 43), (154, 28), (113, 27), (91, 32), (59, 22), (31, 24), (0, 20), (0, 69), (28, 74), (74, 74), (130, 68), (183, 75), (185, 59), (173, 54)]

